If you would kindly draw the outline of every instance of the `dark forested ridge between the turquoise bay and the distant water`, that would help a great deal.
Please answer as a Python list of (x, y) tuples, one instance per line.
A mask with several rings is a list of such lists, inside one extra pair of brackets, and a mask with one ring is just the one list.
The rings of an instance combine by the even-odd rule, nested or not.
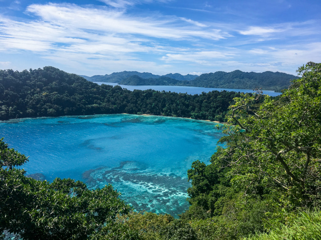
[[(163, 77), (168, 79), (167, 77)], [(200, 95), (98, 85), (54, 67), (0, 70), (0, 120), (92, 114), (152, 114), (223, 121), (239, 93)]]

